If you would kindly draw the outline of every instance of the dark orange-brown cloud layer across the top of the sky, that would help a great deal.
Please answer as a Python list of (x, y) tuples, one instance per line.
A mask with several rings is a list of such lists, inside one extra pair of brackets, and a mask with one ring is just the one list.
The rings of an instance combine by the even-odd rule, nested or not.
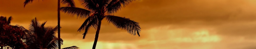
[[(13, 16), (14, 23), (29, 23), (37, 17), (40, 21), (48, 21), (49, 25), (56, 26), (57, 5), (55, 2), (36, 1), (23, 8), (23, 1), (4, 1), (1, 2), (1, 5), (5, 8), (0, 8), (2, 11), (0, 13), (4, 16)], [(75, 2), (77, 7), (83, 8), (78, 1)], [(255, 20), (255, 10), (251, 9), (255, 6), (251, 4), (253, 2), (249, 0), (143, 0), (132, 2), (114, 15), (135, 20), (140, 23), (142, 29), (163, 25), (186, 26), (186, 24), (197, 24), (198, 26), (195, 27), (214, 27), (226, 22)], [(71, 33), (77, 31), (84, 19), (77, 19), (76, 16), (72, 17), (61, 13), (61, 21), (63, 32)], [(115, 29), (112, 24), (108, 24), (106, 21), (103, 21), (103, 23), (102, 33), (124, 31)], [(91, 29), (91, 31), (94, 31), (94, 29)]]

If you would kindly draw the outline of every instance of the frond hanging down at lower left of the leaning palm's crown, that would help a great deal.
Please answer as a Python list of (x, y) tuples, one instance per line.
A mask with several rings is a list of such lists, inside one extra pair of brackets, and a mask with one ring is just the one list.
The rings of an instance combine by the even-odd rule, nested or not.
[(90, 27), (93, 27), (94, 29), (96, 29), (97, 26), (98, 26), (98, 19), (96, 18), (96, 16), (90, 16), (84, 21), (84, 23), (81, 25), (81, 27), (77, 31), (81, 32), (85, 30), (83, 33), (84, 35), (83, 39), (85, 39), (85, 36), (89, 31)]

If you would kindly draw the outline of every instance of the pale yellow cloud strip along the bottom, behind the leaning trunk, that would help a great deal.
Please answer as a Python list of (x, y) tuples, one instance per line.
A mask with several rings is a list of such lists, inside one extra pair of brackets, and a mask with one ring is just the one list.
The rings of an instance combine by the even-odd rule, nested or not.
[[(93, 42), (83, 42), (83, 41), (73, 42), (72, 40), (66, 40), (64, 41), (64, 44), (62, 45), (62, 47), (64, 48), (64, 47), (74, 46), (73, 44), (77, 45), (77, 47), (81, 49), (89, 49), (89, 48), (92, 48)], [(123, 42), (97, 42), (97, 49), (139, 49), (139, 47), (137, 47), (137, 45), (135, 44), (123, 43)]]

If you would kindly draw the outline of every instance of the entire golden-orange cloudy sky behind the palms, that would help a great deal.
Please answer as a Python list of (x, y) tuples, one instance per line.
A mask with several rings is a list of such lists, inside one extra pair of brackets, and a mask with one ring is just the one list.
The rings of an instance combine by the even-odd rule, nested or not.
[[(57, 26), (57, 0), (0, 0), (0, 15), (26, 28), (35, 17)], [(77, 7), (83, 8), (74, 0)], [(61, 5), (65, 7), (65, 5)], [(256, 49), (255, 0), (140, 0), (115, 13), (141, 25), (141, 36), (102, 22), (96, 49)], [(95, 29), (86, 39), (77, 32), (85, 19), (61, 12), (62, 48), (92, 48)]]

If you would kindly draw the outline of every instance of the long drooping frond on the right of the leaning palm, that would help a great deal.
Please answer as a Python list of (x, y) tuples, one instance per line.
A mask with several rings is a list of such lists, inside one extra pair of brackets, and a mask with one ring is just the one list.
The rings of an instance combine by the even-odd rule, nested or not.
[(129, 18), (124, 17), (118, 17), (118, 16), (112, 16), (108, 15), (106, 16), (106, 20), (108, 20), (109, 23), (114, 24), (115, 27), (126, 30), (128, 33), (132, 35), (139, 35), (139, 32), (141, 31), (141, 27), (139, 26), (139, 23), (130, 20)]

